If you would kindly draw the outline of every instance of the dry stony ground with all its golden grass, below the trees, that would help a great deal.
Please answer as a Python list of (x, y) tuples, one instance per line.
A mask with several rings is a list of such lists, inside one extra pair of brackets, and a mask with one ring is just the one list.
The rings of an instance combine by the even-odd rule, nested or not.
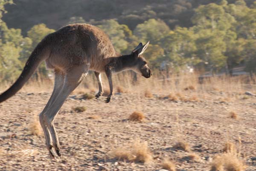
[(28, 83), (0, 104), (0, 170), (256, 171), (256, 96), (245, 94), (256, 94), (253, 79), (131, 78), (115, 75), (110, 103), (93, 97), (93, 75), (84, 79), (55, 119), (56, 160), (38, 122), (53, 83)]

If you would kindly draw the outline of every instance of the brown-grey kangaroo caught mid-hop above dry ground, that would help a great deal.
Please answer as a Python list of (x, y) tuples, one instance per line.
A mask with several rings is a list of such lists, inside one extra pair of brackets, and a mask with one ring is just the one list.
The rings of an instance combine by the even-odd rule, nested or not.
[[(149, 43), (149, 42), (148, 42)], [(140, 43), (128, 55), (116, 53), (109, 37), (101, 29), (89, 24), (72, 24), (48, 34), (32, 51), (23, 71), (15, 83), (0, 94), (0, 103), (12, 97), (29, 80), (36, 68), (45, 60), (47, 68), (53, 69), (55, 83), (52, 95), (43, 111), (39, 114), (49, 155), (61, 157), (60, 144), (54, 127), (54, 119), (69, 94), (81, 83), (89, 70), (95, 71), (99, 83), (98, 98), (102, 94), (100, 73), (106, 73), (110, 85), (111, 100), (113, 72), (132, 69), (144, 77), (152, 73), (142, 54), (148, 47)], [(53, 150), (54, 148), (54, 150)]]

